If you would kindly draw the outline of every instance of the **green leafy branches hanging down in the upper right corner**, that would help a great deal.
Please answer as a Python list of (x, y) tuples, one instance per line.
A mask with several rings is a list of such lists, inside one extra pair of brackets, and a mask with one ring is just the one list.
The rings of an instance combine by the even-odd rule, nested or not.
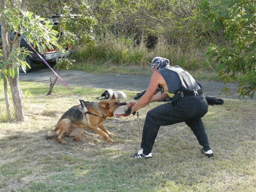
[[(238, 73), (243, 81), (238, 92), (241, 97), (253, 97), (256, 89), (256, 6), (254, 1), (212, 1), (201, 4), (205, 20), (214, 24), (216, 31), (223, 30), (225, 42), (211, 44), (206, 55), (220, 69), (223, 80), (233, 80)], [(208, 11), (203, 11), (203, 8)]]

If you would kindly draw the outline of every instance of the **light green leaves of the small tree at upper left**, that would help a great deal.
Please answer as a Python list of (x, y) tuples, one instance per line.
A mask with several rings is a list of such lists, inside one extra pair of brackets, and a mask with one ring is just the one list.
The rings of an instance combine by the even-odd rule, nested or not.
[(6, 36), (10, 36), (9, 34), (13, 32), (22, 35), (15, 36), (13, 39), (8, 38), (5, 40), (5, 42), (8, 42), (7, 45), (3, 44), (3, 49), (5, 49), (5, 53), (7, 52), (8, 54), (3, 56), (5, 59), (2, 59), (0, 66), (3, 68), (4, 65), (11, 65), (11, 67), (9, 67), (10, 70), (7, 73), (10, 76), (14, 77), (14, 75), (18, 73), (17, 70), (19, 65), (24, 67), (29, 66), (28, 63), (25, 62), (25, 57), (32, 52), (24, 47), (15, 47), (16, 45), (19, 45), (19, 38), (24, 37), (28, 43), (35, 48), (38, 48), (39, 51), (59, 47), (57, 42), (58, 39), (56, 38), (58, 32), (53, 30), (52, 23), (45, 21), (44, 18), (29, 11), (24, 12), (19, 6), (18, 8), (7, 7), (3, 9), (2, 17), (5, 22), (2, 25), (5, 26), (6, 24), (6, 30), (8, 30)]

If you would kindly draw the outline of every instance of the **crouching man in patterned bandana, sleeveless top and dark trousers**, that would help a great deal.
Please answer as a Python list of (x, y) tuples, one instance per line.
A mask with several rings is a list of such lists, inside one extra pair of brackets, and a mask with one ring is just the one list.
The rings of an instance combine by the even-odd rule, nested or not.
[[(208, 111), (208, 103), (200, 85), (179, 66), (170, 67), (166, 58), (155, 57), (151, 63), (152, 76), (146, 92), (140, 100), (125, 111), (126, 115), (135, 114), (136, 110), (150, 102), (171, 97), (172, 102), (161, 104), (147, 112), (141, 148), (132, 158), (152, 158), (152, 148), (160, 126), (185, 122), (203, 146), (202, 153), (208, 158), (214, 156), (209, 146), (208, 137), (201, 117)], [(155, 94), (156, 90), (161, 91)]]

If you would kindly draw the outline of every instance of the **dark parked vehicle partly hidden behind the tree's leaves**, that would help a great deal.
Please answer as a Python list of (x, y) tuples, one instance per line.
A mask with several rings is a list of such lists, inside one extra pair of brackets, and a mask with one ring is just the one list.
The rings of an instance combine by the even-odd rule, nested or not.
[[(53, 16), (53, 22), (54, 24), (57, 24), (59, 22), (59, 18), (60, 16)], [(51, 19), (51, 18), (50, 18)], [(14, 34), (13, 36), (14, 37)], [(11, 38), (12, 38), (11, 37)], [(1, 23), (0, 23), (0, 38), (1, 38)], [(2, 48), (2, 42), (0, 42), (0, 47)], [(25, 39), (21, 36), (21, 42), (20, 42), (20, 47), (25, 47), (27, 50), (31, 51), (31, 55), (30, 56), (27, 56), (25, 58), (26, 62), (29, 64), (30, 68), (29, 67), (26, 67), (25, 68), (25, 72), (28, 73), (31, 71), (31, 69), (33, 68), (34, 65), (38, 65), (38, 64), (41, 64), (41, 63), (44, 63), (42, 61), (42, 59), (39, 57), (39, 55), (44, 58), (46, 60), (46, 62), (50, 65), (50, 66), (54, 66), (56, 64), (56, 59), (57, 58), (63, 58), (65, 56), (69, 56), (71, 54), (71, 46), (67, 47), (66, 50), (67, 50), (67, 54), (61, 54), (59, 53), (57, 50), (55, 49), (52, 49), (52, 50), (43, 50), (41, 52), (38, 51), (37, 48), (35, 48), (35, 50), (37, 51), (37, 54), (35, 50), (33, 50), (27, 43), (27, 41), (25, 41)], [(21, 66), (20, 66), (21, 68)]]

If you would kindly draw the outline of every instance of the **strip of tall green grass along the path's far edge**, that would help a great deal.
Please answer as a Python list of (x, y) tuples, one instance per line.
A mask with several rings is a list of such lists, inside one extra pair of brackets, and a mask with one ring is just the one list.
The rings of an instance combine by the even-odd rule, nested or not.
[(154, 57), (164, 57), (170, 60), (172, 66), (179, 65), (189, 71), (212, 72), (215, 67), (203, 56), (203, 49), (191, 46), (184, 53), (177, 45), (170, 45), (160, 39), (155, 47), (147, 48), (146, 43), (137, 45), (133, 39), (115, 38), (113, 34), (106, 32), (96, 38), (95, 45), (74, 50), (72, 58), (76, 60), (76, 64), (73, 69), (91, 73), (122, 73), (122, 67), (132, 66), (145, 70)]

